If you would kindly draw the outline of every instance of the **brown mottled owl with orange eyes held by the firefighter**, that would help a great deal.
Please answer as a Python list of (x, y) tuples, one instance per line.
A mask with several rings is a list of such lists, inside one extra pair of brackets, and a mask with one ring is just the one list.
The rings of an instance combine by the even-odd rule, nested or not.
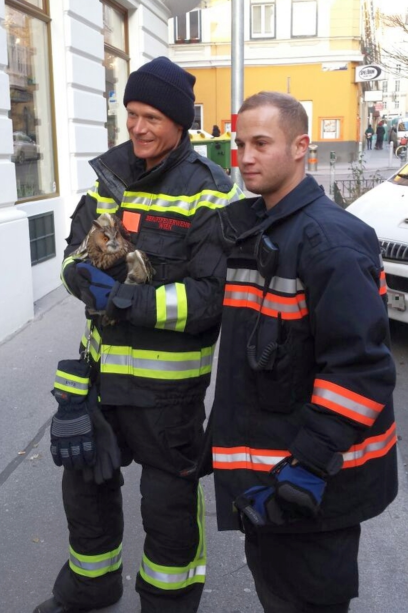
[(155, 273), (144, 251), (135, 249), (128, 240), (130, 235), (121, 219), (116, 215), (102, 213), (92, 222), (91, 230), (81, 245), (72, 254), (81, 259), (89, 259), (96, 268), (106, 270), (126, 256), (127, 277), (125, 283), (150, 283)]

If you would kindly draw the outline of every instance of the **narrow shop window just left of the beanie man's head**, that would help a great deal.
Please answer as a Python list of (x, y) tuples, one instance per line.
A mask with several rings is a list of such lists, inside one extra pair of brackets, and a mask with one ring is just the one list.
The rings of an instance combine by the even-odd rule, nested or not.
[(105, 97), (108, 147), (128, 140), (123, 94), (128, 78), (127, 12), (115, 2), (104, 0)]

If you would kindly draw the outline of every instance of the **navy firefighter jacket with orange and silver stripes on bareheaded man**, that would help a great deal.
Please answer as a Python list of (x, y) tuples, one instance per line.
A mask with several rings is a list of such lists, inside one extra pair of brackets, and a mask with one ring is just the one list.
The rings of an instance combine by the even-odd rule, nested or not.
[(234, 499), (268, 484), (288, 455), (328, 475), (321, 514), (270, 530), (334, 530), (376, 516), (398, 482), (374, 230), (310, 176), (270, 211), (258, 198), (219, 215), (228, 272), (213, 404), (218, 527), (239, 527)]

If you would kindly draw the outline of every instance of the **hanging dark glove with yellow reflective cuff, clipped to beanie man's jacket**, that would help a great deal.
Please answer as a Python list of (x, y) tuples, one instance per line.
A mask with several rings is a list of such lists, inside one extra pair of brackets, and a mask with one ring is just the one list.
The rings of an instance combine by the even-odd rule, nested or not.
[(96, 390), (88, 392), (89, 372), (86, 362), (59, 362), (52, 394), (58, 410), (51, 420), (51, 455), (57, 466), (81, 469), (95, 462), (94, 428), (89, 406)]

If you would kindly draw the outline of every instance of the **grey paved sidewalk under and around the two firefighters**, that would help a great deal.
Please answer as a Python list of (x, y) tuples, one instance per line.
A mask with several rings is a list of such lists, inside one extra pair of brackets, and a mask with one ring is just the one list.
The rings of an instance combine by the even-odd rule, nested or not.
[[(50, 394), (59, 359), (76, 357), (83, 307), (61, 287), (36, 305), (35, 319), (0, 345), (0, 594), (4, 613), (32, 613), (67, 557), (61, 469), (49, 451)], [(217, 359), (217, 357), (216, 357)], [(209, 411), (213, 386), (207, 395)], [(360, 598), (352, 613), (406, 613), (408, 483), (399, 455), (400, 489), (382, 516), (363, 524)], [(139, 468), (124, 470), (124, 596), (101, 613), (138, 613), (135, 576), (143, 547)], [(198, 613), (262, 613), (240, 533), (217, 531), (212, 476), (206, 497), (207, 582)], [(165, 611), (163, 611), (165, 613)]]

